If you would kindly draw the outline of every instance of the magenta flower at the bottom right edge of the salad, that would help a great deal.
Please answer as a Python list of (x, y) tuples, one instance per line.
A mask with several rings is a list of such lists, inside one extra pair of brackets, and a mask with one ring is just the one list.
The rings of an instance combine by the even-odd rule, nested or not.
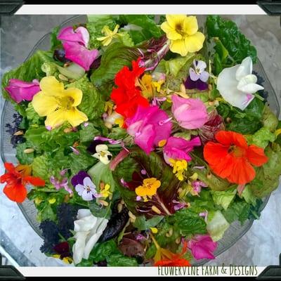
[(214, 251), (217, 246), (218, 243), (211, 240), (209, 235), (195, 235), (188, 241), (188, 249), (195, 259), (215, 259)]

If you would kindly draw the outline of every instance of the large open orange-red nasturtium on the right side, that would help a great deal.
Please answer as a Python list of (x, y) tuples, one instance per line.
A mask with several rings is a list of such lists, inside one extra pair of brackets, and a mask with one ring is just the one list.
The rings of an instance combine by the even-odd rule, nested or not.
[(212, 171), (230, 183), (249, 183), (256, 176), (254, 166), (261, 166), (268, 161), (263, 148), (247, 145), (241, 133), (218, 131), (216, 141), (209, 141), (204, 146), (204, 159)]

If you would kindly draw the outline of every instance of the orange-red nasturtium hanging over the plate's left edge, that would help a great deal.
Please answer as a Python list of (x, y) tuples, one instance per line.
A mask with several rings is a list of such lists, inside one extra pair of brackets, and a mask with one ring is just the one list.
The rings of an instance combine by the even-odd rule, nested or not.
[(30, 183), (35, 186), (44, 186), (45, 181), (36, 176), (30, 176), (31, 169), (28, 165), (13, 166), (12, 163), (4, 163), (6, 174), (0, 177), (0, 183), (7, 183), (3, 192), (15, 202), (22, 203), (27, 197), (25, 185)]

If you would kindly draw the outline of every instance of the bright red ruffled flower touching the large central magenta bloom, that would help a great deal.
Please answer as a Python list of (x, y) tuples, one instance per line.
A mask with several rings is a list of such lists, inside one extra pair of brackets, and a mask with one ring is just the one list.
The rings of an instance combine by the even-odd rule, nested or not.
[(132, 70), (124, 66), (115, 76), (115, 84), (118, 88), (112, 89), (110, 98), (117, 105), (116, 111), (125, 118), (131, 117), (136, 112), (138, 105), (148, 107), (146, 98), (141, 96), (141, 91), (136, 87), (136, 79), (145, 71), (139, 67), (141, 58), (132, 62)]

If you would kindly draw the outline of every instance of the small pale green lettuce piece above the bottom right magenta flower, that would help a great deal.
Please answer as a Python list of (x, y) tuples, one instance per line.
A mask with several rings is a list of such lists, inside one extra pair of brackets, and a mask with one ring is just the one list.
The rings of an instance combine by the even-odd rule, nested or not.
[(207, 219), (207, 231), (213, 241), (218, 241), (223, 237), (230, 224), (226, 221), (221, 211), (211, 211)]

